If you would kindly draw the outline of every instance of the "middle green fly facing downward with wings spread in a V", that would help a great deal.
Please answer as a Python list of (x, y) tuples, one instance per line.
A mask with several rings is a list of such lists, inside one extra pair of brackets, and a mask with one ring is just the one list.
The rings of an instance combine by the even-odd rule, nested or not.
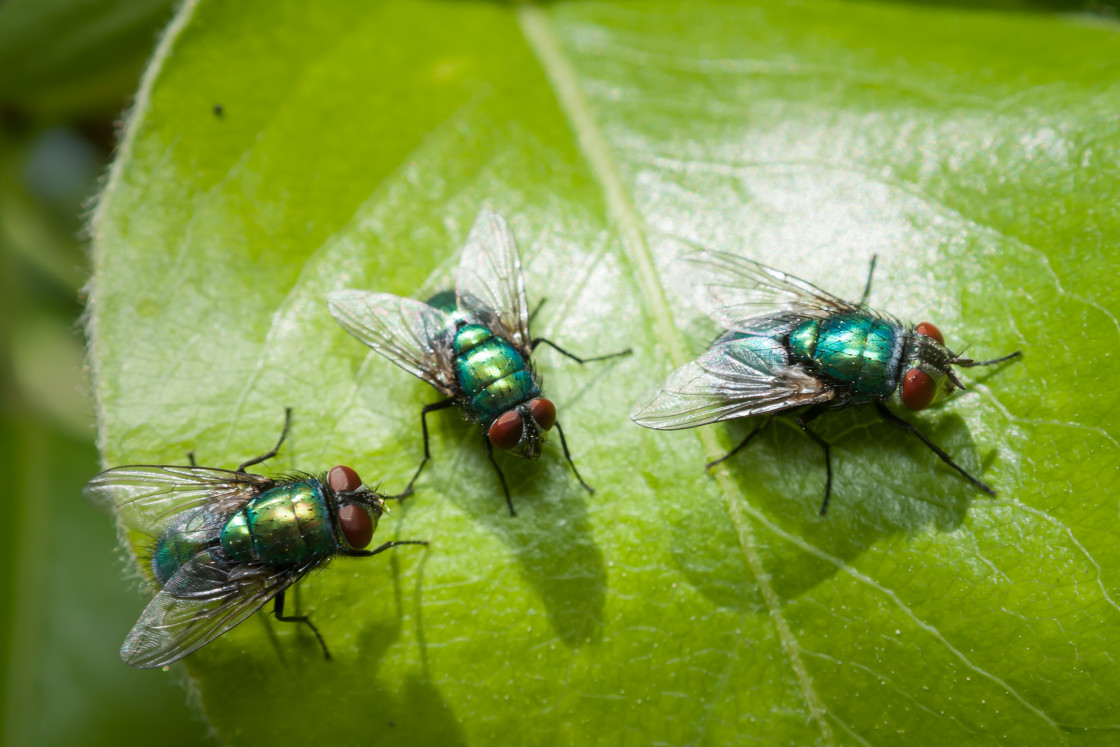
[(541, 396), (531, 355), (542, 344), (577, 363), (604, 361), (629, 351), (580, 358), (549, 339), (530, 335), (532, 315), (525, 301), (521, 256), (502, 216), (489, 211), (479, 214), (463, 250), (454, 291), (441, 291), (421, 302), (390, 293), (340, 290), (329, 295), (328, 305), (346, 332), (444, 394), (445, 399), (420, 411), (423, 461), (409, 488), (430, 456), (428, 413), (458, 407), (467, 420), (482, 428), (486, 455), (497, 471), (511, 515), (516, 514), (513, 498), (493, 447), (535, 459), (544, 433), (553, 427), (576, 478), (588, 493), (595, 492), (576, 469), (556, 405)]

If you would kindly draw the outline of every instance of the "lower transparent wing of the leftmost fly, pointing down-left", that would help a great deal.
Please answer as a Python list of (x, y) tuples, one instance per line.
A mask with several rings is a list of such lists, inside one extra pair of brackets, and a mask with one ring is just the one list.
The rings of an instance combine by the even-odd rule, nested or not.
[(177, 662), (241, 624), (316, 564), (281, 572), (216, 560), (204, 550), (148, 604), (121, 646), (121, 659), (140, 669)]

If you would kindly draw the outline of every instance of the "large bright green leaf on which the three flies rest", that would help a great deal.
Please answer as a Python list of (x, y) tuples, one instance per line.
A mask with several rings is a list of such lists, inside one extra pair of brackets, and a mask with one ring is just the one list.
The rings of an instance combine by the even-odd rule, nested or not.
[[(438, 289), (505, 214), (556, 445), (501, 459), (429, 418), (379, 536), (187, 660), (231, 744), (1009, 744), (1114, 739), (1120, 35), (893, 3), (187, 3), (96, 218), (106, 464), (351, 464), (386, 491), (437, 399), (325, 295)], [(214, 105), (221, 104), (216, 114)], [(673, 433), (631, 402), (715, 326), (672, 263), (739, 252), (930, 318), (978, 357), (907, 415), (990, 499), (852, 409)], [(432, 279), (435, 273), (435, 279)]]

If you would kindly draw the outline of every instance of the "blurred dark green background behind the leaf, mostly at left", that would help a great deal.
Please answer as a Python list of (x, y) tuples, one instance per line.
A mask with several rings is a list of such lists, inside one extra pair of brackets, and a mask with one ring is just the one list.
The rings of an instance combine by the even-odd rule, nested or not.
[[(83, 367), (82, 234), (170, 0), (0, 0), (0, 743), (212, 743), (178, 678), (116, 648), (144, 597), (109, 516)], [(1088, 10), (1117, 2), (991, 0)]]

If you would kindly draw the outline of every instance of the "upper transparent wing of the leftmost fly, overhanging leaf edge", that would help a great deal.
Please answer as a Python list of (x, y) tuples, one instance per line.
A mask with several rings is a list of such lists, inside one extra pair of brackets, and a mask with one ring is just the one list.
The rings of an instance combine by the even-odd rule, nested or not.
[(230, 469), (132, 465), (106, 469), (82, 494), (96, 506), (115, 508), (129, 529), (159, 536), (185, 511), (203, 505), (223, 514), (235, 511), (272, 484), (262, 475)]

